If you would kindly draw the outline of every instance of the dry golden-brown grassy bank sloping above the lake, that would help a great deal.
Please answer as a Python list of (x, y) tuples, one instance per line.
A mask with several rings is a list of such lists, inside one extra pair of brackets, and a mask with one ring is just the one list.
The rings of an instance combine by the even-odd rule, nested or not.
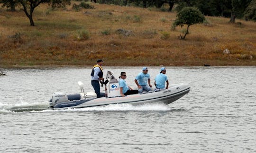
[(95, 9), (80, 11), (41, 5), (36, 26), (24, 12), (0, 8), (0, 67), (91, 66), (97, 59), (107, 66), (256, 66), (255, 22), (206, 17), (180, 40), (183, 29), (171, 29), (175, 13), (91, 5)]

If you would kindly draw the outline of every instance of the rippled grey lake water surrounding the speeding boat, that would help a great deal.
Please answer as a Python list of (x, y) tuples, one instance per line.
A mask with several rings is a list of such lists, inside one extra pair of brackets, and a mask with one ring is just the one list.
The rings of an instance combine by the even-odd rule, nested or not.
[[(148, 68), (151, 82), (160, 68)], [(1, 69), (0, 153), (255, 153), (256, 67), (170, 67), (191, 91), (165, 106), (50, 110), (54, 92), (92, 91), (91, 68)], [(141, 68), (104, 67), (136, 88)]]

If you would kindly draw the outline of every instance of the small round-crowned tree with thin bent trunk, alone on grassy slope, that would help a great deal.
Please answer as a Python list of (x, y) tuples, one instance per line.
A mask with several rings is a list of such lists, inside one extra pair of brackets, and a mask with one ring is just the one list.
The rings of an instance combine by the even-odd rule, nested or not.
[(200, 12), (198, 8), (194, 8), (194, 7), (183, 8), (180, 12), (178, 12), (176, 17), (177, 18), (173, 24), (174, 27), (175, 26), (183, 27), (184, 25), (188, 25), (185, 35), (184, 36), (180, 35), (181, 39), (185, 39), (186, 35), (189, 34), (189, 26), (197, 23), (202, 23), (204, 21), (203, 14)]

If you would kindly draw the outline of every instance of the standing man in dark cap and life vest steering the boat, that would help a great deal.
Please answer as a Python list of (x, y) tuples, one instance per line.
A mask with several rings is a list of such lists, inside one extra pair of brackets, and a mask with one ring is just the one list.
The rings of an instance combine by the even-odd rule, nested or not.
[(103, 80), (103, 69), (101, 68), (103, 60), (97, 60), (97, 64), (93, 66), (91, 70), (91, 85), (97, 94), (97, 98), (101, 97), (100, 80)]

